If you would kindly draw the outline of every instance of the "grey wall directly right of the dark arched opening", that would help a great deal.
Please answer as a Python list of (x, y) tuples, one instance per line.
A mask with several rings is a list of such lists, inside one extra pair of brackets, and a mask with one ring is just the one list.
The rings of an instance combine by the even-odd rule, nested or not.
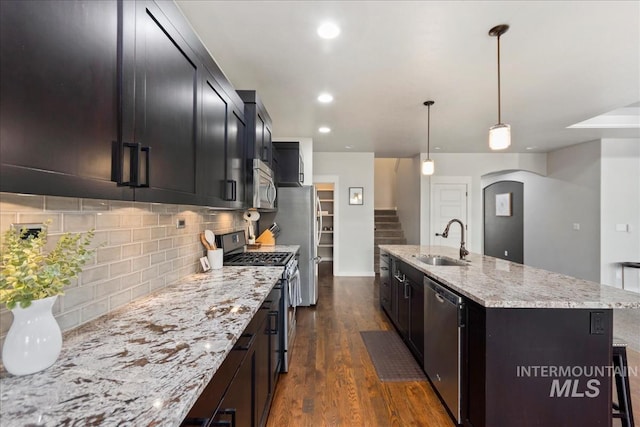
[[(600, 142), (548, 153), (548, 176), (493, 174), (524, 184), (524, 263), (600, 282)], [(579, 224), (579, 230), (574, 229)]]

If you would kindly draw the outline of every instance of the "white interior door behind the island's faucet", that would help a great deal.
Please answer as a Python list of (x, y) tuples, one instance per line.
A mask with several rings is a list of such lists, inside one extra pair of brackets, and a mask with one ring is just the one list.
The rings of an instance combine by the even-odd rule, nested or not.
[(468, 184), (431, 183), (431, 239), (432, 245), (460, 247), (460, 226), (452, 224), (449, 237), (439, 237), (447, 223), (457, 218), (465, 225), (466, 247), (469, 248), (468, 230)]

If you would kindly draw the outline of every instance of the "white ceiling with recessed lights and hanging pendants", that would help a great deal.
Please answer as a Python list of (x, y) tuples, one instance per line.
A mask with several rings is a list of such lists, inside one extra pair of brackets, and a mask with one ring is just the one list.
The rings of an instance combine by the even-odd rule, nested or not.
[[(497, 59), (487, 33), (498, 24), (511, 26), (501, 38), (507, 152), (640, 137), (637, 108), (625, 110), (635, 128), (567, 129), (640, 101), (638, 1), (176, 2), (231, 83), (258, 91), (274, 136), (312, 137), (314, 151), (424, 152), (428, 99), (432, 150), (490, 151)], [(316, 35), (326, 20), (341, 27), (336, 39)], [(323, 91), (333, 103), (316, 101)]]

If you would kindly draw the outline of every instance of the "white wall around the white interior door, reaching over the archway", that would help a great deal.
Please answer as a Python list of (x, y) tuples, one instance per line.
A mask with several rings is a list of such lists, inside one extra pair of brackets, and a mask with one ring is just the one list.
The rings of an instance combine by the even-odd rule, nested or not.
[[(426, 154), (420, 155), (421, 159)], [(547, 172), (546, 154), (517, 154), (517, 153), (431, 153), (435, 162), (433, 176), (469, 177), (470, 189), (470, 218), (468, 226), (469, 250), (482, 253), (482, 176), (498, 172), (529, 170), (541, 175)], [(419, 171), (416, 172), (419, 174)], [(420, 176), (420, 244), (428, 245), (429, 230), (429, 200), (431, 195), (428, 176)]]

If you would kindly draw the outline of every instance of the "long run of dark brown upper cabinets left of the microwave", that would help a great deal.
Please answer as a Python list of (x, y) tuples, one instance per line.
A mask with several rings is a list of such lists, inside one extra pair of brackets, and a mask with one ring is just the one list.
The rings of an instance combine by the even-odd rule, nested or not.
[(0, 191), (247, 205), (245, 104), (173, 2), (0, 16)]

